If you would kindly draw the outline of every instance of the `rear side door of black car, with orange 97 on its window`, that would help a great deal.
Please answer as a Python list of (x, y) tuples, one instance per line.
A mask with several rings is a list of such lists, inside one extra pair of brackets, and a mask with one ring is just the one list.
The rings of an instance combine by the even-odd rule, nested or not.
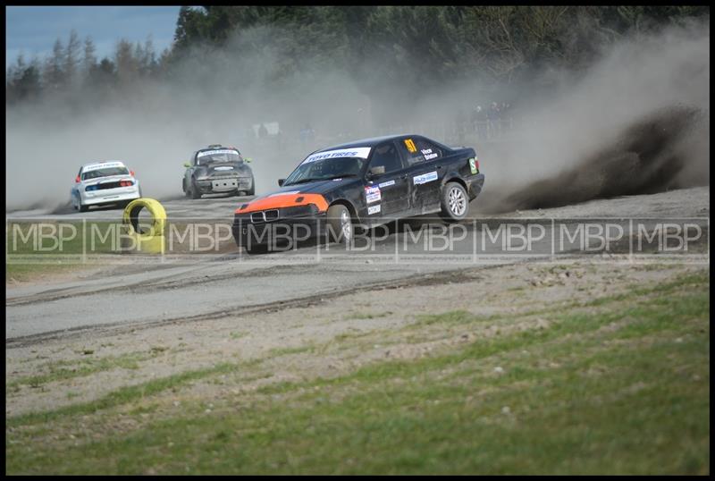
[(409, 199), (416, 214), (440, 209), (440, 193), (445, 166), (442, 148), (422, 137), (406, 137), (398, 141), (405, 156)]

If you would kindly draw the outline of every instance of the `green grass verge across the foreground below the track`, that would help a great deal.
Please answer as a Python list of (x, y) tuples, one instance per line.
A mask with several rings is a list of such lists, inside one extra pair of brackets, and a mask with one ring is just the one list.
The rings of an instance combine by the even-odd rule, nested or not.
[[(107, 426), (118, 407), (238, 367), (122, 388), (7, 419), (6, 472), (708, 474), (709, 287), (707, 273), (689, 274), (552, 309), (548, 328), (429, 358), (269, 384), (238, 401), (192, 401), (164, 415), (145, 408), (151, 420), (116, 433)], [(456, 311), (420, 322), (462, 328), (528, 315)], [(208, 401), (216, 406), (205, 412)], [(77, 427), (97, 411), (83, 421), (88, 429)]]

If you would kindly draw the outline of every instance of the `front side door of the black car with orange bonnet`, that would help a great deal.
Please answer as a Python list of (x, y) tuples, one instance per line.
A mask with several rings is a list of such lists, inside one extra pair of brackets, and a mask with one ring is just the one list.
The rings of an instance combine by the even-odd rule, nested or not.
[[(385, 172), (369, 175), (374, 167), (384, 167)], [(365, 218), (397, 217), (408, 212), (409, 185), (402, 156), (394, 140), (374, 147), (368, 178), (365, 184)]]

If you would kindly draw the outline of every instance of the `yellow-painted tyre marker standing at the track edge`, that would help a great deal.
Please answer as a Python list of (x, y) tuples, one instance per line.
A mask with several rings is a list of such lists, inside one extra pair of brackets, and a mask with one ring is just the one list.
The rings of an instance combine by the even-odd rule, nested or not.
[[(139, 223), (139, 212), (147, 209), (152, 216), (148, 229)], [(166, 211), (154, 198), (137, 198), (124, 207), (122, 215), (122, 252), (164, 254), (166, 237)]]

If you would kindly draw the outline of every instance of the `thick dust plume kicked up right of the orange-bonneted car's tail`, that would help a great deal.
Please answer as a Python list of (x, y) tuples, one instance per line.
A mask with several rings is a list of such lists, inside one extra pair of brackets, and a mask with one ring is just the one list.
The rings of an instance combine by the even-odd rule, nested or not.
[(530, 103), (514, 141), (484, 146), (480, 210), (709, 185), (709, 25), (623, 42)]

